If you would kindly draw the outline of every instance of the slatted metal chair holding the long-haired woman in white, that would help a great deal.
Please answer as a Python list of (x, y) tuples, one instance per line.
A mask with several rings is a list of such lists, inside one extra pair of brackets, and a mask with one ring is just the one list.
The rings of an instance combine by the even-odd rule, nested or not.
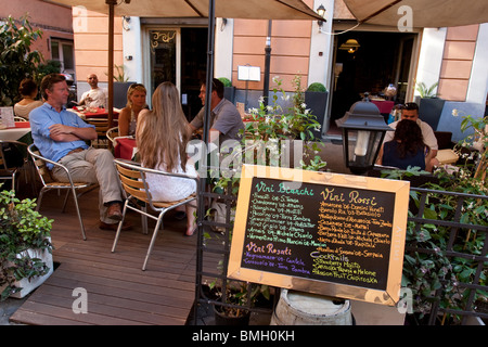
[[(196, 191), (198, 191), (198, 178), (183, 175), (183, 174), (168, 174), (159, 170), (149, 169), (141, 167), (138, 163), (124, 160), (124, 159), (114, 159), (115, 166), (117, 168), (118, 175), (120, 177), (120, 181), (123, 184), (123, 188), (127, 194), (127, 198), (124, 203), (124, 210), (123, 210), (123, 219), (118, 223), (117, 233), (115, 234), (114, 244), (112, 246), (112, 253), (115, 252), (115, 247), (117, 246), (118, 239), (120, 236), (121, 226), (124, 222), (124, 219), (126, 218), (127, 209), (134, 210), (145, 219), (145, 217), (150, 217), (154, 220), (156, 220), (156, 227), (154, 228), (153, 235), (151, 239), (150, 246), (147, 248), (147, 254), (144, 259), (144, 264), (142, 266), (142, 270), (144, 271), (147, 265), (147, 260), (151, 256), (151, 253), (154, 247), (154, 242), (156, 241), (157, 232), (159, 230), (159, 227), (163, 229), (163, 217), (168, 211), (171, 210), (180, 205), (184, 205), (187, 203), (190, 203), (192, 201), (196, 200), (196, 194), (192, 194), (187, 196), (183, 200), (177, 201), (177, 202), (154, 202), (151, 196), (150, 188), (147, 185), (147, 182), (145, 180), (146, 174), (157, 174), (163, 176), (170, 176), (170, 177), (179, 177), (179, 178), (185, 178), (189, 180), (194, 180), (196, 182)], [(136, 204), (129, 204), (130, 201), (133, 201)], [(144, 206), (141, 208), (134, 207), (138, 206), (142, 202)], [(139, 203), (139, 204), (138, 204)], [(153, 210), (158, 213), (157, 217), (149, 214), (146, 211), (146, 206), (150, 206)], [(143, 233), (147, 233), (146, 224), (143, 222)]]

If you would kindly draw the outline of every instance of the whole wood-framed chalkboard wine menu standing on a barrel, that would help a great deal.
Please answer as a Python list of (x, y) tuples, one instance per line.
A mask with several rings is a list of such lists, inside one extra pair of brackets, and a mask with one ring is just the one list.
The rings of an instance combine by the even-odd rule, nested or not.
[(394, 306), (410, 183), (243, 165), (231, 279)]

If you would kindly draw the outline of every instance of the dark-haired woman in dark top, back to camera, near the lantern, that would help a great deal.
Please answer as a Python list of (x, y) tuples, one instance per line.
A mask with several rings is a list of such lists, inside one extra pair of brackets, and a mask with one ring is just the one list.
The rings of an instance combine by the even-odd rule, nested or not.
[(383, 143), (376, 164), (398, 167), (402, 170), (418, 166), (432, 172), (433, 152), (424, 143), (422, 130), (415, 121), (403, 119), (398, 123), (394, 139)]

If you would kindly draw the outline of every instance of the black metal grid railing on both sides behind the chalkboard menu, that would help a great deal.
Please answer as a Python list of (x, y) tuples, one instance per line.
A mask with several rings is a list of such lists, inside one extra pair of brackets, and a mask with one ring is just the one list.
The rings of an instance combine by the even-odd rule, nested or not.
[[(210, 200), (219, 200), (221, 203), (226, 205), (226, 221), (217, 222), (207, 219), (201, 219), (200, 224), (201, 229), (204, 232), (198, 233), (198, 242), (197, 242), (197, 269), (196, 269), (196, 296), (195, 304), (210, 304), (216, 306), (224, 306), (224, 307), (235, 307), (245, 309), (248, 311), (260, 311), (260, 312), (270, 312), (273, 308), (269, 307), (256, 307), (252, 305), (251, 292), (252, 286), (256, 285), (253, 283), (241, 283), (243, 288), (245, 288), (245, 293), (247, 295), (247, 300), (244, 306), (235, 305), (228, 303), (226, 286), (229, 281), (239, 282), (235, 280), (231, 280), (227, 278), (227, 268), (229, 264), (229, 255), (230, 255), (230, 246), (231, 246), (231, 207), (236, 203), (236, 196), (231, 194), (231, 187), (229, 185), (226, 194), (216, 194), (209, 191), (202, 191), (200, 194), (200, 198), (210, 201)], [(419, 196), (418, 204), (412, 201), (413, 192)], [(426, 214), (426, 208), (429, 208), (429, 204), (433, 200), (437, 202), (441, 202), (441, 196), (448, 196), (450, 198), (455, 198), (455, 206), (445, 208), (452, 208), (452, 218), (426, 218), (425, 216), (432, 216), (432, 214)], [(406, 255), (411, 254), (425, 254), (433, 256), (434, 254), (441, 254), (448, 259), (465, 259), (470, 262), (471, 267), (473, 267), (473, 273), (470, 277), (470, 281), (467, 282), (459, 282), (455, 284), (458, 286), (458, 291), (462, 293), (463, 296), (463, 308), (449, 308), (442, 307), (440, 297), (446, 295), (450, 288), (447, 287), (448, 283), (445, 281), (440, 281), (440, 287), (428, 296), (428, 300), (432, 301), (432, 306), (429, 309), (429, 319), (428, 324), (436, 324), (437, 318), (439, 314), (454, 314), (457, 317), (461, 317), (460, 323), (465, 324), (467, 317), (479, 317), (481, 319), (487, 319), (488, 314), (484, 312), (479, 312), (475, 307), (475, 294), (477, 291), (488, 292), (488, 287), (486, 285), (480, 284), (480, 279), (488, 275), (488, 242), (487, 242), (487, 218), (485, 216), (480, 216), (479, 220), (481, 221), (479, 224), (471, 224), (464, 222), (462, 220), (462, 211), (466, 208), (466, 204), (472, 201), (486, 201), (488, 196), (485, 195), (472, 195), (472, 194), (463, 194), (463, 193), (454, 193), (454, 192), (446, 192), (446, 191), (437, 191), (437, 190), (427, 190), (420, 188), (411, 188), (411, 208), (410, 215), (408, 218), (408, 223), (410, 231), (415, 234), (420, 232), (424, 226), (439, 226), (448, 230), (447, 242), (437, 245), (437, 247), (428, 248), (423, 246), (423, 243), (419, 242), (409, 242), (406, 246)], [(442, 208), (442, 206), (440, 206)], [(412, 211), (413, 210), (413, 211)], [(413, 223), (413, 224), (412, 224)], [(223, 231), (218, 232), (208, 232), (211, 227), (221, 228)], [(477, 250), (475, 253), (471, 252), (460, 252), (459, 245), (459, 236), (461, 233), (474, 233), (477, 235)], [(210, 236), (208, 237), (208, 234)], [(432, 242), (434, 242), (433, 240)], [(221, 285), (222, 296), (219, 298), (214, 297), (208, 293), (208, 284), (218, 281), (219, 285)], [(278, 301), (279, 291), (280, 288), (274, 288), (274, 305)], [(273, 305), (273, 306), (274, 306)], [(197, 305), (195, 305), (197, 307)]]

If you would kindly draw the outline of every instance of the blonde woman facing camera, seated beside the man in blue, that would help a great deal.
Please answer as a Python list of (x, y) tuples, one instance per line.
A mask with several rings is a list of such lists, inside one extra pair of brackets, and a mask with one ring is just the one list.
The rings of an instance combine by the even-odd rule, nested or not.
[(141, 110), (146, 108), (145, 95), (147, 91), (143, 85), (130, 85), (127, 90), (127, 105), (118, 115), (118, 136), (127, 137), (136, 134), (136, 126)]

